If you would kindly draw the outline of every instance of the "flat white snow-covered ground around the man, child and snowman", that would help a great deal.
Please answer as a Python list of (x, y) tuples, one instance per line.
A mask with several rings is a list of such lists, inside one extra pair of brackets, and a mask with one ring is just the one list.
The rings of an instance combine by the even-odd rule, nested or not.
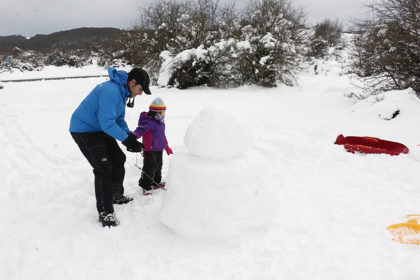
[[(92, 66), (54, 68), (48, 76), (65, 76), (70, 70), (74, 76), (106, 73)], [(137, 98), (135, 107), (127, 108), (126, 121), (134, 129), (139, 113), (153, 98), (165, 100), (166, 134), (174, 155), (164, 154), (164, 178), (172, 157), (175, 163), (194, 164), (185, 155), (175, 157), (185, 152), (184, 135), (203, 108), (229, 112), (252, 127), (257, 139), (252, 150), (259, 155), (256, 169), (264, 170), (255, 190), (267, 189), (277, 201), (276, 209), (265, 225), (211, 238), (181, 235), (160, 222), (162, 204), (168, 199), (164, 196), (170, 191), (143, 196), (134, 166), (142, 157), (128, 152), (124, 186), (134, 201), (115, 206), (118, 227), (102, 228), (97, 222), (92, 168), (68, 125), (74, 109), (104, 78), (5, 83), (0, 90), (1, 278), (420, 279), (420, 246), (391, 241), (385, 230), (405, 222), (404, 215), (420, 212), (420, 163), (410, 153), (350, 154), (333, 144), (343, 133), (416, 149), (419, 100), (407, 101), (406, 92), (401, 98), (385, 96), (381, 102), (388, 102), (386, 106), (379, 106), (381, 102), (354, 106), (343, 93), (358, 89), (338, 75), (340, 63), (328, 61), (323, 71), (327, 75), (309, 71), (299, 75), (299, 86), (275, 89), (152, 87), (152, 95)], [(47, 71), (18, 78), (43, 74)], [(0, 80), (8, 80), (8, 75), (0, 74)], [(394, 119), (378, 115), (395, 108), (400, 114)], [(217, 146), (209, 149), (218, 152)], [(220, 175), (211, 165), (200, 166), (215, 178)], [(208, 181), (203, 184), (212, 187)], [(236, 189), (240, 196), (240, 186)], [(217, 195), (220, 204), (234, 203), (229, 201), (231, 194)], [(197, 191), (184, 192), (179, 199), (204, 215), (210, 208), (194, 203), (202, 199), (199, 196)], [(255, 201), (250, 203), (255, 207)], [(173, 217), (174, 222), (181, 218)]]

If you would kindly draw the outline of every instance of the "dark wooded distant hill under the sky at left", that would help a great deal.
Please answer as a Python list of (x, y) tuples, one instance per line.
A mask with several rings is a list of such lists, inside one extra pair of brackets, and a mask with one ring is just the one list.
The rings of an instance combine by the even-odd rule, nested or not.
[(123, 30), (118, 28), (82, 27), (48, 35), (37, 34), (34, 37), (21, 35), (0, 36), (0, 54), (9, 54), (13, 48), (24, 50), (48, 51), (55, 48), (84, 49), (92, 43), (103, 43), (119, 38)]

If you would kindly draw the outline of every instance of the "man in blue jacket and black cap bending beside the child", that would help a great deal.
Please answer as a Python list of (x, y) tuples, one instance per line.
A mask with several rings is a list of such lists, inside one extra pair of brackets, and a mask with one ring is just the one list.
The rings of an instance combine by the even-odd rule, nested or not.
[(143, 92), (151, 94), (146, 71), (133, 68), (129, 73), (108, 69), (109, 81), (98, 84), (71, 115), (70, 133), (80, 151), (93, 167), (95, 174), (96, 208), (102, 225), (117, 226), (114, 204), (133, 200), (124, 196), (123, 181), (126, 155), (115, 139), (129, 152), (141, 152), (144, 147), (129, 130), (125, 117), (127, 99)]

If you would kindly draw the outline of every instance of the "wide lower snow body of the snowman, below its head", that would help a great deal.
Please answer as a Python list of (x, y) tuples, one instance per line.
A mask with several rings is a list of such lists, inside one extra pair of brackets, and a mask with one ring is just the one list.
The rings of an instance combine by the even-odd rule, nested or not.
[[(213, 153), (219, 153), (217, 146)], [(278, 208), (270, 197), (272, 187), (260, 184), (263, 174), (270, 177), (265, 174), (266, 162), (255, 150), (228, 160), (179, 151), (171, 160), (167, 179), (171, 188), (160, 221), (194, 238), (237, 235), (271, 222)]]

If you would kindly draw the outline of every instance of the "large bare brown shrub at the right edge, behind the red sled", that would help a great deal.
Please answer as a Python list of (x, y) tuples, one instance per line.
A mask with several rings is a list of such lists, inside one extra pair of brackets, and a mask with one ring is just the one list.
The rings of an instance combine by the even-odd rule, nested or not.
[(355, 20), (359, 30), (352, 67), (370, 94), (408, 87), (420, 94), (420, 2), (383, 0), (366, 5), (374, 15)]

